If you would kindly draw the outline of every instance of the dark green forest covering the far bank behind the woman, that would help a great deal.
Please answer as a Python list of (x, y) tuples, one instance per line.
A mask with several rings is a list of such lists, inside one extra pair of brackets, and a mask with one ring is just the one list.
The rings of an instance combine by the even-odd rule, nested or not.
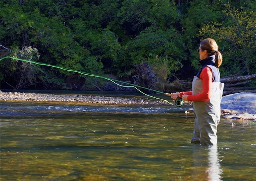
[[(222, 78), (256, 87), (256, 1), (1, 0), (1, 58), (42, 62), (160, 91), (189, 90), (213, 38)], [(1, 89), (126, 90), (109, 81), (4, 59)], [(232, 81), (236, 78), (243, 78)]]

